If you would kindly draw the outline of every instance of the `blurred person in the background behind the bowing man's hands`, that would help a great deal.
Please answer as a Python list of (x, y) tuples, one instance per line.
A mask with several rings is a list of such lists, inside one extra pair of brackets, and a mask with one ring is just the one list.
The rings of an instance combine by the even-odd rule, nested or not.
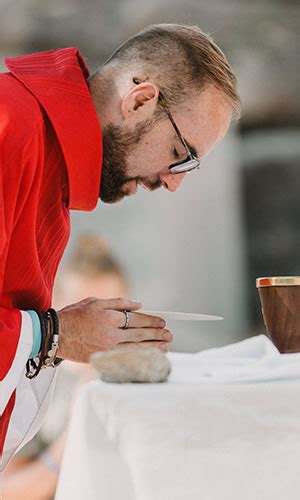
[[(127, 297), (127, 276), (105, 240), (86, 234), (59, 270), (53, 293), (54, 306), (59, 309), (87, 296)], [(96, 376), (90, 365), (63, 363), (40, 431), (1, 474), (0, 491), (5, 500), (48, 500), (54, 496), (72, 401), (78, 386)]]

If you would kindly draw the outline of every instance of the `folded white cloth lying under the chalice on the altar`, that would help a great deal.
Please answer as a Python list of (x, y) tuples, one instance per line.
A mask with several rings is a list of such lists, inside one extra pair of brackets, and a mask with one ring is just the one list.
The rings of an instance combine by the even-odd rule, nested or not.
[(195, 354), (169, 353), (170, 382), (243, 383), (300, 380), (300, 353), (280, 354), (265, 335)]

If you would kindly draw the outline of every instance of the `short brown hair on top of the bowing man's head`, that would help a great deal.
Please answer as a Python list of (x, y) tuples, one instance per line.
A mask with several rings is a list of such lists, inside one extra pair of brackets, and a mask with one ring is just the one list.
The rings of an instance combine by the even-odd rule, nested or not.
[(155, 24), (124, 42), (105, 62), (138, 66), (163, 91), (172, 107), (188, 93), (211, 83), (220, 89), (235, 112), (241, 114), (237, 81), (221, 49), (198, 26)]

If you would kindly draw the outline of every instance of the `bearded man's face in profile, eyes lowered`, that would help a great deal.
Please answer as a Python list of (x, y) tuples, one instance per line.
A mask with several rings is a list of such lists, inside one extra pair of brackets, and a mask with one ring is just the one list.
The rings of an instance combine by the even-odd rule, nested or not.
[[(172, 116), (192, 152), (202, 159), (223, 139), (232, 110), (223, 94), (209, 85), (180, 110), (175, 109)], [(126, 121), (122, 125), (109, 123), (103, 130), (100, 198), (115, 203), (135, 194), (139, 186), (150, 191), (164, 187), (174, 192), (186, 174), (170, 174), (168, 167), (186, 156), (166, 113), (158, 119), (152, 114), (134, 127)]]

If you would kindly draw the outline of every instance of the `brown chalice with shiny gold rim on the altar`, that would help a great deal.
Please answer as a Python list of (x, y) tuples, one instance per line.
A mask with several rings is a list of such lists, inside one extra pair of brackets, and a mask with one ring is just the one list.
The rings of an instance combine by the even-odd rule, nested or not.
[(256, 280), (267, 334), (282, 353), (300, 352), (300, 276)]

